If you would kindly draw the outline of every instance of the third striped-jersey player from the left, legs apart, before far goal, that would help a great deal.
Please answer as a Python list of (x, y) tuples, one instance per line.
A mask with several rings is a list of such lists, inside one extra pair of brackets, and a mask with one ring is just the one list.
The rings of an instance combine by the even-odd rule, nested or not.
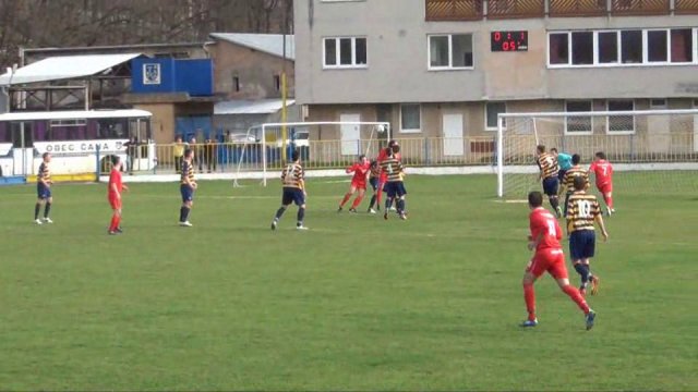
[(305, 193), (305, 172), (301, 166), (300, 155), (298, 151), (293, 151), (291, 154), (291, 160), (292, 162), (289, 163), (281, 172), (281, 183), (284, 184), (281, 207), (274, 216), (272, 230), (276, 230), (281, 216), (286, 212), (288, 206), (293, 203), (298, 206), (298, 221), (296, 223), (296, 229), (308, 230), (308, 228), (303, 225), (303, 219), (305, 219), (305, 197), (308, 196)]

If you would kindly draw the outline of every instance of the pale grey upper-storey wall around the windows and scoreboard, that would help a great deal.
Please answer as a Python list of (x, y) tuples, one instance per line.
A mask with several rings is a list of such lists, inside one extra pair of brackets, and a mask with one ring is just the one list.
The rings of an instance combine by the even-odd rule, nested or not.
[[(547, 69), (553, 29), (698, 26), (696, 16), (425, 22), (424, 0), (297, 1), (300, 103), (691, 97), (698, 65)], [(529, 32), (529, 49), (492, 52), (495, 29)], [(473, 34), (473, 70), (429, 71), (428, 35)], [(323, 37), (365, 36), (368, 68), (323, 70)], [(590, 83), (592, 81), (592, 83)]]

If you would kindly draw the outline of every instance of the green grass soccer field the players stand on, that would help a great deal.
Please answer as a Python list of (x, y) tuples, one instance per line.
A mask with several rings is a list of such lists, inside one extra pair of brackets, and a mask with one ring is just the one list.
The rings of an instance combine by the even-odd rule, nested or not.
[(201, 182), (191, 229), (177, 184), (132, 184), (119, 236), (104, 184), (56, 185), (41, 226), (34, 186), (1, 187), (0, 389), (698, 389), (697, 195), (617, 188), (593, 330), (550, 277), (521, 330), (527, 206), (491, 175), (406, 181), (384, 221), (309, 180), (308, 232), (296, 208), (269, 230), (276, 181)]

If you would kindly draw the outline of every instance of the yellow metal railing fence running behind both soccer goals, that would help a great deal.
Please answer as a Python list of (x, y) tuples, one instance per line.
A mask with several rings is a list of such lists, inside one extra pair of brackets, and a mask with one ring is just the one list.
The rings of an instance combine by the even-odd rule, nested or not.
[[(505, 151), (506, 164), (533, 164), (535, 139), (533, 135), (509, 135), (512, 145), (519, 146), (525, 151), (516, 154)], [(589, 161), (600, 146), (603, 146), (611, 160), (618, 163), (647, 162), (695, 162), (698, 152), (695, 147), (693, 132), (672, 132), (662, 137), (647, 134), (636, 135), (583, 135), (544, 137), (550, 147), (557, 147), (564, 151), (577, 152), (585, 161)], [(353, 155), (342, 155), (342, 144), (347, 140), (304, 140), (302, 144), (289, 146), (301, 155), (306, 169), (341, 169), (357, 160)], [(359, 143), (359, 142), (357, 142)], [(495, 136), (473, 136), (462, 138), (420, 137), (399, 139), (402, 162), (408, 167), (440, 167), (440, 166), (495, 166)], [(532, 147), (531, 147), (532, 146)], [(369, 158), (377, 155), (383, 143), (373, 140), (361, 144), (361, 151), (369, 151)], [(285, 162), (281, 159), (281, 148), (267, 145), (263, 151), (261, 143), (212, 143), (189, 146), (195, 152), (194, 167), (200, 172), (227, 173), (236, 172), (238, 164), (241, 171), (257, 171), (263, 169), (263, 154), (266, 154), (267, 170), (280, 169)], [(174, 173), (177, 162), (173, 144), (157, 145), (157, 166), (151, 173)]]

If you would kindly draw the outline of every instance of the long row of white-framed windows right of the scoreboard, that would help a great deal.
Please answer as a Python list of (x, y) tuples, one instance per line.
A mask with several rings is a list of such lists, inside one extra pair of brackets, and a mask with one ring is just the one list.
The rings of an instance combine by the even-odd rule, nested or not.
[(547, 34), (547, 64), (551, 68), (696, 64), (696, 27)]

